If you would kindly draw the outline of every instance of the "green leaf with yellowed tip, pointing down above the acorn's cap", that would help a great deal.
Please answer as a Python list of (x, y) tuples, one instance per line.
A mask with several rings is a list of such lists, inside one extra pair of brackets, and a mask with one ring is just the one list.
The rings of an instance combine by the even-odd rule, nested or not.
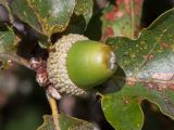
[(37, 31), (51, 36), (63, 31), (75, 8), (75, 0), (13, 0), (12, 11)]

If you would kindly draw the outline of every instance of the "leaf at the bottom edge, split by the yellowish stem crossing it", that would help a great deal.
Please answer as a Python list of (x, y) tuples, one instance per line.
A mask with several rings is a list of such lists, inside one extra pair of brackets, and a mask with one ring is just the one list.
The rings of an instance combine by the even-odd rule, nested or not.
[[(44, 123), (37, 130), (55, 130), (52, 116), (45, 115)], [(73, 117), (61, 114), (60, 116), (60, 129), (61, 130), (94, 130), (95, 126)]]

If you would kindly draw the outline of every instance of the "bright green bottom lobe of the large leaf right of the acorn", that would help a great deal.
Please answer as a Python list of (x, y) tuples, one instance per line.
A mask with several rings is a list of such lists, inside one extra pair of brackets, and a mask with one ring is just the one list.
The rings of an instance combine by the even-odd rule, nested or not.
[(126, 92), (119, 92), (103, 96), (102, 109), (107, 120), (117, 130), (141, 130), (144, 115), (138, 99), (126, 95)]

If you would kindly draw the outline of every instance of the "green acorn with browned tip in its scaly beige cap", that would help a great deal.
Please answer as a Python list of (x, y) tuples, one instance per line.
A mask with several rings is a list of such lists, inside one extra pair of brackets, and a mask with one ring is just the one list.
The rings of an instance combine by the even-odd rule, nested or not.
[(60, 93), (82, 95), (104, 82), (116, 70), (113, 50), (87, 37), (70, 34), (51, 48), (47, 62), (50, 82)]

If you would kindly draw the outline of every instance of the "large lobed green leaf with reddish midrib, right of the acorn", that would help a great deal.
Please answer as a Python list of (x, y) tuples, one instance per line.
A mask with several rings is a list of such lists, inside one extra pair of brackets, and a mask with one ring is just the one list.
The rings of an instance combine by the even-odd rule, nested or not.
[(109, 38), (119, 65), (126, 77), (117, 93), (103, 95), (102, 108), (108, 121), (120, 130), (140, 130), (144, 116), (139, 104), (149, 100), (174, 119), (174, 9), (142, 29), (137, 40)]

